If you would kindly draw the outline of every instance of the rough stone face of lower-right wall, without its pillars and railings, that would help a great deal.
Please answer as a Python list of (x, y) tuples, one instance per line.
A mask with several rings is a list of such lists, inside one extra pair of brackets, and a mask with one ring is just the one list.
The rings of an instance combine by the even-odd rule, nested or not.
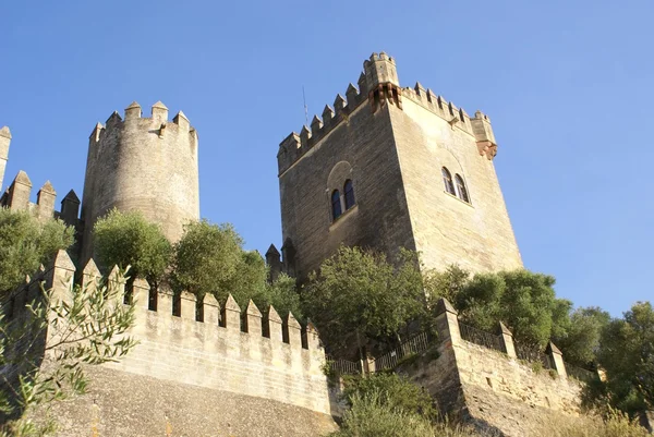
[(581, 385), (535, 373), (508, 355), (464, 340), (438, 347), (401, 372), (437, 400), (444, 413), (460, 414), (486, 432), (508, 437), (538, 435), (542, 425), (580, 415)]

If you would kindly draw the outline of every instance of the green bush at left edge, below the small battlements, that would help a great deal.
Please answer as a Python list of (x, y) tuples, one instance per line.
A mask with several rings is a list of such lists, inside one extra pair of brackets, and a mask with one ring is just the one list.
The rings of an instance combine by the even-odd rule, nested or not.
[(57, 251), (74, 242), (74, 230), (61, 220), (40, 222), (27, 211), (0, 208), (0, 292), (20, 286)]

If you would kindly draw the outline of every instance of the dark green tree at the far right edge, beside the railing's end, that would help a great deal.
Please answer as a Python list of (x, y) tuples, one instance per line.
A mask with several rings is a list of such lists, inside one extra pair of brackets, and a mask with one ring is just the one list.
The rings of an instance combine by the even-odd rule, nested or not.
[(635, 303), (602, 332), (597, 361), (606, 371), (609, 403), (628, 413), (654, 406), (654, 309)]

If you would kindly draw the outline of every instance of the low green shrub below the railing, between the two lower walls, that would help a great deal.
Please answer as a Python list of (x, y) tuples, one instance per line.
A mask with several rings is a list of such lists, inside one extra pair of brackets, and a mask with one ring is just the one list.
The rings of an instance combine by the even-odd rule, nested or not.
[(362, 377), (350, 375), (343, 377), (343, 398), (353, 405), (356, 397), (377, 397), (378, 401), (391, 410), (407, 414), (419, 414), (427, 420), (435, 420), (436, 409), (432, 397), (405, 377), (393, 373), (377, 373)]

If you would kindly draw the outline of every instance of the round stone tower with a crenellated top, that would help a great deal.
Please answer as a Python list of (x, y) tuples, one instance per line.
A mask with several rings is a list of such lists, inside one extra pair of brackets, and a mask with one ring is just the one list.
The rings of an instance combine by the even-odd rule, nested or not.
[(81, 260), (93, 256), (93, 226), (111, 208), (138, 210), (174, 242), (199, 218), (197, 133), (182, 111), (168, 121), (160, 101), (152, 117), (133, 102), (90, 134), (82, 198)]

